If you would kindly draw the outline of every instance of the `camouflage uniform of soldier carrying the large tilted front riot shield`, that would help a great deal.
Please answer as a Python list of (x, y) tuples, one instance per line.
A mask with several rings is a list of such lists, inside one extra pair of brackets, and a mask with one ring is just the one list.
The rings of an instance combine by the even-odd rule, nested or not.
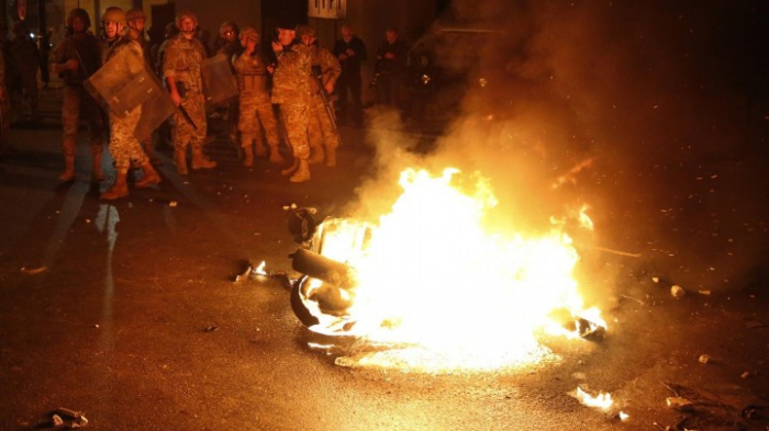
[[(104, 64), (123, 49), (130, 49), (144, 58), (142, 46), (129, 36), (115, 37), (104, 47)], [(142, 105), (136, 106), (126, 116), (120, 118), (110, 112), (110, 154), (115, 161), (115, 170), (129, 170), (131, 165), (145, 166), (149, 162), (142, 145), (134, 136), (136, 124), (142, 116)]]

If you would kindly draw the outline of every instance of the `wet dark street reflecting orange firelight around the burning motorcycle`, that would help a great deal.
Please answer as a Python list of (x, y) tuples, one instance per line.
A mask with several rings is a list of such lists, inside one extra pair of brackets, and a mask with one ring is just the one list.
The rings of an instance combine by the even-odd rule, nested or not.
[[(606, 339), (549, 340), (558, 360), (536, 368), (403, 373), (311, 350), (280, 283), (233, 280), (263, 260), (291, 273), (286, 205), (344, 215), (375, 155), (365, 131), (342, 132), (339, 167), (309, 183), (265, 160), (244, 169), (216, 140), (215, 169), (182, 178), (158, 152), (159, 186), (103, 202), (85, 146), (77, 181), (60, 184), (60, 132), (13, 129), (0, 181), (0, 429), (47, 429), (56, 408), (93, 430), (769, 428), (766, 285), (677, 299), (676, 279), (655, 282), (657, 266), (623, 256), (600, 258), (626, 272)], [(615, 405), (586, 407), (577, 386)]]

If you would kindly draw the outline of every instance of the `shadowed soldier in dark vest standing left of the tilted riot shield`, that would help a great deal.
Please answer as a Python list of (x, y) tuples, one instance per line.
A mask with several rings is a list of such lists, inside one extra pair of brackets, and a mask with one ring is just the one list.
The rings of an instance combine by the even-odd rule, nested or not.
[(85, 9), (74, 9), (67, 18), (67, 36), (51, 53), (51, 71), (64, 80), (64, 103), (62, 104), (62, 125), (64, 128), (64, 172), (60, 181), (75, 180), (75, 154), (77, 152), (77, 131), (80, 115), (88, 120), (90, 126), (91, 155), (94, 181), (104, 179), (101, 171), (102, 136), (104, 125), (101, 107), (82, 87), (82, 82), (101, 67), (101, 48), (99, 41), (88, 29), (91, 19)]

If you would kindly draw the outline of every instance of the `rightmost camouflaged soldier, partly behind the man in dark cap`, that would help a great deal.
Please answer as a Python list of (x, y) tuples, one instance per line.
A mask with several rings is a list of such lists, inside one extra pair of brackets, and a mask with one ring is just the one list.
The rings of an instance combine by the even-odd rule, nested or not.
[[(324, 47), (317, 45), (317, 34), (315, 30), (300, 25), (297, 29), (297, 35), (302, 43), (310, 48), (312, 58), (312, 78), (310, 79), (310, 124), (309, 139), (312, 157), (310, 163), (321, 163), (324, 160), (326, 166), (336, 166), (336, 148), (339, 146), (339, 135), (336, 133), (336, 127), (333, 123), (332, 115), (333, 106), (328, 101), (328, 97), (334, 92), (336, 80), (342, 73), (339, 60)], [(317, 78), (320, 77), (320, 79)], [(322, 84), (322, 86), (321, 86)], [(321, 91), (325, 91), (326, 99), (321, 95)], [(330, 103), (326, 106), (325, 103)]]

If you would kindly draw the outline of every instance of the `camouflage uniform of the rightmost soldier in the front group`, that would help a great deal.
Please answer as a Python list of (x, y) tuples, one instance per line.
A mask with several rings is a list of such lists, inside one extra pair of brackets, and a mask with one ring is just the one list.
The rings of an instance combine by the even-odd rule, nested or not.
[(310, 159), (311, 163), (323, 161), (323, 149), (326, 151), (326, 165), (336, 165), (336, 148), (339, 146), (339, 135), (334, 128), (331, 122), (328, 112), (326, 111), (323, 99), (320, 92), (325, 91), (325, 89), (320, 87), (316, 75), (320, 75), (323, 80), (323, 86), (331, 83), (332, 86), (336, 83), (336, 80), (342, 73), (342, 66), (339, 66), (339, 60), (328, 52), (328, 49), (317, 46), (314, 44), (310, 47), (310, 55), (312, 56), (312, 72), (313, 77), (311, 79), (311, 98), (310, 98), (310, 124), (309, 124), (309, 139), (310, 147), (313, 150), (313, 157)]

